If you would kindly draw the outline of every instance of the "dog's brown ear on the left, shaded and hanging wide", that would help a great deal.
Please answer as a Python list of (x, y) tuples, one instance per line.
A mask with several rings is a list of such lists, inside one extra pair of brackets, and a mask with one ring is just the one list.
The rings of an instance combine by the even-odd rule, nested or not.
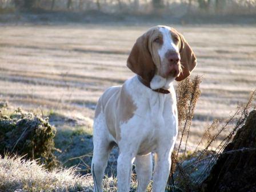
[(139, 37), (127, 59), (127, 67), (147, 82), (150, 82), (155, 74), (155, 65), (149, 51), (152, 43), (150, 41), (150, 33)]

